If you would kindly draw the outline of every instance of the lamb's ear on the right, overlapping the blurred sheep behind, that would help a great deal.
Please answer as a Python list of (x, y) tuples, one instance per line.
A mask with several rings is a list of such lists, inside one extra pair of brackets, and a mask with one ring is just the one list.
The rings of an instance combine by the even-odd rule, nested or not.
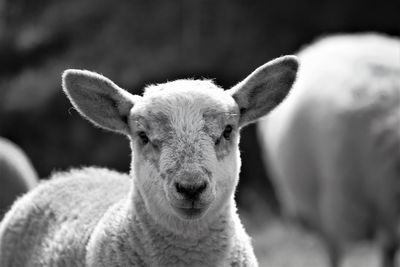
[(240, 126), (266, 115), (292, 87), (298, 69), (295, 56), (283, 56), (257, 68), (228, 92), (240, 109)]

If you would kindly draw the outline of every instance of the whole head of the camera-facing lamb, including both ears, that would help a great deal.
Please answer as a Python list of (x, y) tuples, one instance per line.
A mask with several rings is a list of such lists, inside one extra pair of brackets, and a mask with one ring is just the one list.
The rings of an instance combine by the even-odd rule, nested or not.
[(230, 90), (178, 80), (137, 96), (99, 74), (67, 70), (63, 87), (84, 117), (130, 138), (134, 183), (149, 212), (196, 221), (216, 216), (233, 199), (239, 130), (286, 96), (296, 72), (296, 58), (286, 56)]

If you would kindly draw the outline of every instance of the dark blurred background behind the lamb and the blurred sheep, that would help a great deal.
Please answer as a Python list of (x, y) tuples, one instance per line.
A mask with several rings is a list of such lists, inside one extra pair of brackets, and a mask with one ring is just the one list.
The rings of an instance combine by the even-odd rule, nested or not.
[[(400, 1), (0, 0), (0, 136), (43, 178), (82, 165), (128, 171), (127, 139), (70, 108), (63, 70), (94, 70), (133, 93), (187, 77), (229, 88), (320, 36), (360, 31), (399, 36)], [(276, 211), (254, 125), (241, 150), (240, 207)]]

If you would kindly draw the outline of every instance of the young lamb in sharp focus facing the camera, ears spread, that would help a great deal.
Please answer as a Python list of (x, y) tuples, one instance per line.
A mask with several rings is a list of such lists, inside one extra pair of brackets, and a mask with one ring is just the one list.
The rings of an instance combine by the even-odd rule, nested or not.
[(130, 174), (56, 173), (0, 225), (1, 266), (257, 266), (236, 212), (239, 130), (288, 93), (297, 60), (266, 63), (230, 90), (209, 80), (132, 95), (67, 70), (63, 88), (93, 124), (130, 140)]

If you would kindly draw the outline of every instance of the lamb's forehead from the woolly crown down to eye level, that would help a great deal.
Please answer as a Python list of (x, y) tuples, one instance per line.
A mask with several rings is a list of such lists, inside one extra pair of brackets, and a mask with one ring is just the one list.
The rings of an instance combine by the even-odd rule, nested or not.
[(209, 132), (217, 132), (224, 124), (237, 124), (238, 114), (232, 96), (208, 80), (151, 85), (131, 110), (136, 126), (161, 135), (194, 134), (204, 130), (205, 125)]

